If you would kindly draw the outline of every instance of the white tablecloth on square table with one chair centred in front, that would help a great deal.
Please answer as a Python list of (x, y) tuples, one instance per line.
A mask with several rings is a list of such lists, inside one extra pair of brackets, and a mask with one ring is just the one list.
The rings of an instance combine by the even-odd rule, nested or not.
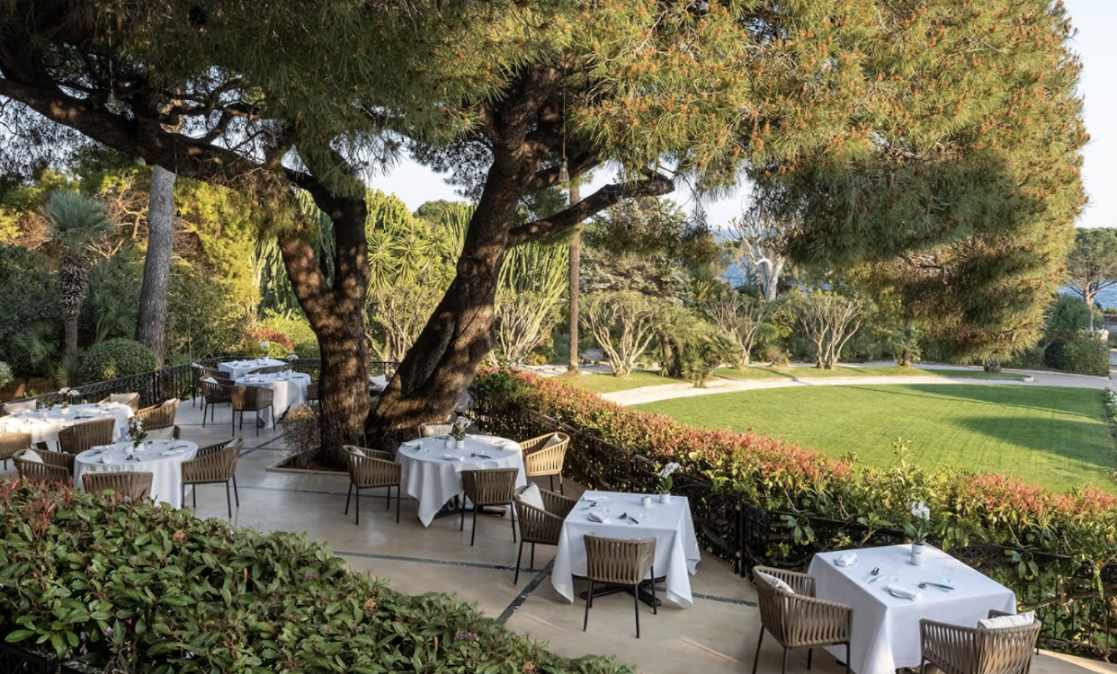
[[(653, 495), (651, 506), (645, 509), (640, 504), (643, 495), (612, 491), (588, 491), (583, 494), (583, 500), (566, 516), (558, 539), (551, 585), (560, 595), (574, 600), (574, 577), (585, 576), (585, 542), (582, 537), (594, 533), (604, 538), (655, 538), (656, 576), (667, 578), (667, 598), (684, 608), (694, 604), (690, 576), (695, 575), (701, 553), (694, 520), (690, 519), (690, 504), (686, 497), (672, 495), (668, 503), (660, 503), (659, 497)], [(598, 506), (601, 510), (609, 509), (605, 522), (590, 521), (585, 497), (607, 497)], [(621, 513), (626, 512), (637, 518), (639, 524), (621, 520)]]

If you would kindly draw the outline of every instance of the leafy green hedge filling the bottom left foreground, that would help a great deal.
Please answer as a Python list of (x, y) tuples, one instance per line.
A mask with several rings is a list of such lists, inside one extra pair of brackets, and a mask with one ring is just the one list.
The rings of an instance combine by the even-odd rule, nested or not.
[(393, 591), (303, 536), (21, 481), (0, 482), (0, 634), (134, 673), (632, 672)]

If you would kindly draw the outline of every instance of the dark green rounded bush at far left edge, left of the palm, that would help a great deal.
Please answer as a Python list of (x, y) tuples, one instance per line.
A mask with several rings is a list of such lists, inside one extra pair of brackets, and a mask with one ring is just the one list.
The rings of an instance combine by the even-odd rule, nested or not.
[(30, 374), (35, 366), (16, 336), (45, 321), (61, 333), (58, 277), (41, 254), (0, 244), (0, 360), (18, 374)]

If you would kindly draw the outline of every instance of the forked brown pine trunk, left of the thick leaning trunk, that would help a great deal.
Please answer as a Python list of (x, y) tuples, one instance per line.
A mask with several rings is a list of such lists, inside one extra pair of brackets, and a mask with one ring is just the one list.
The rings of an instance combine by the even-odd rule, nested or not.
[(292, 288), (322, 350), (319, 459), (340, 464), (342, 445), (364, 442), (369, 415), (369, 344), (364, 300), (369, 288), (364, 199), (316, 195), (334, 222), (334, 282), (326, 283), (314, 249), (297, 235), (279, 239)]

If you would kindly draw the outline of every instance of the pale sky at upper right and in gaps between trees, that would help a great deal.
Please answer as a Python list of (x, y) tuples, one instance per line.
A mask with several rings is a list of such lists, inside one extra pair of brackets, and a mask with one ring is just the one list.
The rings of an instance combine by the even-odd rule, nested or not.
[[(1082, 179), (1089, 203), (1079, 216), (1078, 227), (1117, 227), (1117, 0), (1065, 0), (1078, 35), (1071, 47), (1082, 58), (1081, 94), (1086, 102), (1086, 129), (1090, 143), (1083, 151)], [(612, 177), (598, 171), (598, 187)], [(442, 176), (411, 161), (403, 161), (386, 175), (371, 181), (372, 186), (397, 196), (414, 210), (435, 199), (460, 200)], [(686, 209), (695, 206), (689, 194), (677, 189), (670, 195)], [(747, 205), (744, 190), (705, 204), (707, 222), (719, 229)]]

